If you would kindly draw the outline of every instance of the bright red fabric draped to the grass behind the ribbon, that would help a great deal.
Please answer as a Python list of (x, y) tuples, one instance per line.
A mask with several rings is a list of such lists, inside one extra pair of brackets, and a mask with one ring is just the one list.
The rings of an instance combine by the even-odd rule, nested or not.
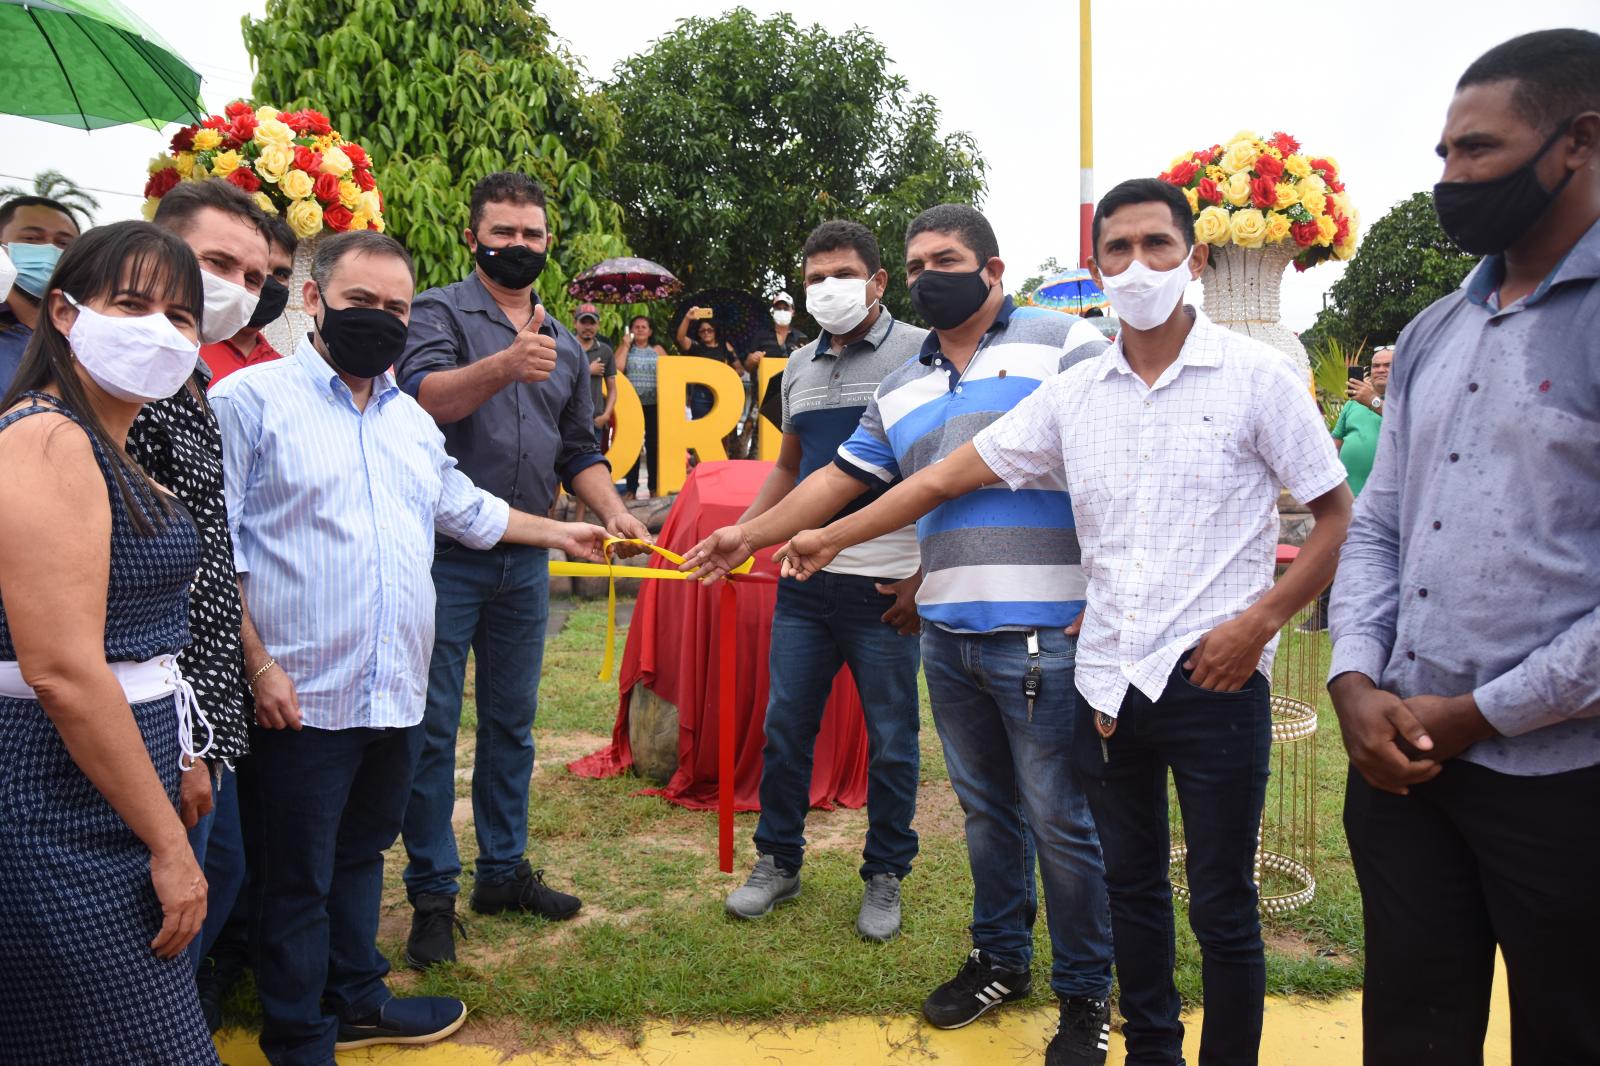
[[(672, 512), (656, 538), (678, 554), (698, 544), (712, 530), (739, 520), (766, 480), (771, 463), (701, 463), (683, 483)], [(755, 573), (776, 575), (773, 549), (758, 552)], [(667, 565), (661, 559), (651, 562)], [(584, 778), (611, 778), (634, 765), (627, 743), (627, 706), (635, 683), (678, 707), (678, 770), (664, 789), (648, 789), (680, 807), (717, 807), (717, 672), (726, 648), (715, 639), (722, 616), (717, 589), (690, 581), (640, 581), (638, 603), (627, 631), (622, 669), (618, 677), (621, 701), (611, 746), (568, 763)], [(766, 651), (773, 632), (778, 586), (741, 581), (736, 587), (739, 640), (731, 650), (736, 663), (738, 711), (734, 736), (734, 807), (760, 810), (762, 731), (766, 720)], [(861, 699), (850, 667), (834, 679), (834, 691), (822, 715), (811, 770), (811, 805), (861, 807), (867, 802), (867, 733)]]

